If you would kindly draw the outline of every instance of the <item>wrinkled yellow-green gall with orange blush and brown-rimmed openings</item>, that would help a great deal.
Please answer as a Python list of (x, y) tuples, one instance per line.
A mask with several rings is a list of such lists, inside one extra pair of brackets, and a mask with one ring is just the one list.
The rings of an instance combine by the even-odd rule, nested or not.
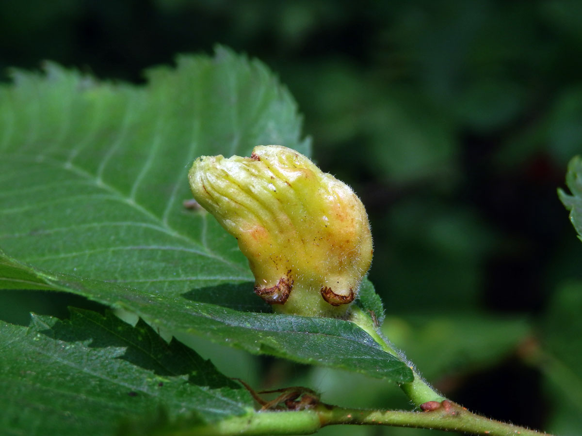
[(372, 260), (364, 205), (306, 156), (260, 145), (249, 158), (201, 156), (188, 174), (194, 198), (239, 241), (255, 293), (274, 310), (341, 316)]

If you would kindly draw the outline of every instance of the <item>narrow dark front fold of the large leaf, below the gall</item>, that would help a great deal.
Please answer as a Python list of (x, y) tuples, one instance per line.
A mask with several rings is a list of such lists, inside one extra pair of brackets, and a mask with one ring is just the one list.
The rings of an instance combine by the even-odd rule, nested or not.
[[(10, 262), (14, 270), (26, 269), (4, 256), (3, 263)], [(54, 290), (74, 292), (113, 308), (130, 310), (172, 333), (193, 334), (254, 354), (320, 364), (400, 383), (412, 380), (405, 363), (382, 351), (367, 333), (349, 321), (240, 312), (198, 302), (198, 292), (168, 298), (113, 283), (44, 271), (38, 272), (37, 280)], [(225, 287), (226, 299), (235, 299), (236, 295), (228, 292), (239, 288)], [(249, 283), (249, 295), (252, 288)], [(212, 287), (210, 291), (216, 289)], [(201, 290), (200, 294), (203, 299), (208, 298), (207, 290)]]

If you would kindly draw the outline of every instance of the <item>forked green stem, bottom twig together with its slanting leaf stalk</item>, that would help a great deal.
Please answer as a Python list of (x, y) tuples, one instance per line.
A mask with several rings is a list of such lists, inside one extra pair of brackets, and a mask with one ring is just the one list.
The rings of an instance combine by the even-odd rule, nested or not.
[[(350, 321), (356, 323), (376, 341), (382, 349), (403, 362), (407, 362), (398, 351), (384, 338), (379, 328), (367, 313), (354, 308)], [(408, 362), (407, 362), (408, 364)], [(246, 416), (232, 417), (214, 424), (184, 428), (183, 430), (162, 431), (164, 436), (289, 436), (313, 434), (325, 426), (337, 424), (356, 424), (374, 426), (395, 426), (434, 428), (445, 431), (465, 432), (482, 436), (540, 436), (535, 430), (505, 424), (469, 412), (462, 406), (449, 401), (433, 389), (410, 366), (413, 381), (400, 385), (404, 393), (415, 405), (423, 405), (425, 412), (406, 412), (403, 410), (361, 410), (347, 409), (318, 403), (313, 409), (298, 411), (261, 410)], [(429, 403), (430, 402), (430, 403)], [(428, 404), (427, 404), (428, 403)], [(551, 435), (548, 435), (551, 436)]]

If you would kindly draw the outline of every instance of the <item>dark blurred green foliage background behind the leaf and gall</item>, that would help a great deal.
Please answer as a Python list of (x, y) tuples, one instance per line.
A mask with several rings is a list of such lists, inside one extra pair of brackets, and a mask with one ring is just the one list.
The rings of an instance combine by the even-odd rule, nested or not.
[(426, 365), (452, 353), (431, 376), (457, 401), (580, 424), (580, 363), (560, 388), (544, 359), (582, 360), (582, 327), (560, 320), (582, 316), (582, 245), (556, 195), (582, 150), (582, 2), (8, 0), (0, 29), (4, 81), (51, 59), (143, 83), (216, 43), (261, 59), (299, 102), (314, 159), (367, 206), (387, 333)]

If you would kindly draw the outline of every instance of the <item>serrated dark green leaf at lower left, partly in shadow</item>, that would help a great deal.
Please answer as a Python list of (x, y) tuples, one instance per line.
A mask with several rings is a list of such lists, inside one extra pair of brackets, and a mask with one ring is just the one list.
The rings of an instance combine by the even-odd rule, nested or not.
[(2, 434), (109, 435), (162, 412), (211, 423), (253, 410), (245, 388), (143, 321), (33, 315), (28, 328), (0, 321), (0, 344)]

